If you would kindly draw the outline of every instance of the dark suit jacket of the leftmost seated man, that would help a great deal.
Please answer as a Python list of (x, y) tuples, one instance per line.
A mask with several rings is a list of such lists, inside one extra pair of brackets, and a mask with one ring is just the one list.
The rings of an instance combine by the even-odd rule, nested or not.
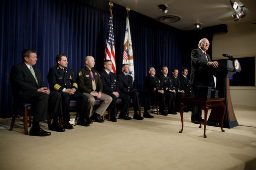
[(33, 69), (37, 78), (37, 84), (24, 62), (11, 68), (10, 81), (14, 97), (25, 97), (24, 92), (37, 91), (38, 88), (47, 87), (42, 80), (41, 72), (34, 67)]

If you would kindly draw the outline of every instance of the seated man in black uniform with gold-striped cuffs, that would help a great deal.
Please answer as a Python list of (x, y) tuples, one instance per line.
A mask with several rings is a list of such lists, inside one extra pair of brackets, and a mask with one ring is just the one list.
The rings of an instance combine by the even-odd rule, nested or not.
[[(70, 99), (76, 100), (78, 103), (79, 119), (77, 125), (90, 126), (89, 114), (86, 110), (88, 97), (77, 91), (78, 85), (74, 73), (67, 68), (68, 60), (66, 54), (58, 54), (55, 61), (57, 65), (50, 68), (47, 78), (50, 88), (61, 93), (64, 127), (73, 129), (73, 126), (69, 123)], [(55, 127), (51, 128), (55, 129)]]

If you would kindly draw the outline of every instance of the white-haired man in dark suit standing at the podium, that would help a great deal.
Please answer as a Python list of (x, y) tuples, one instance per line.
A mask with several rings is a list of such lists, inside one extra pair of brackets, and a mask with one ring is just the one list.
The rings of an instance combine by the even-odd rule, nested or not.
[[(211, 68), (217, 68), (218, 62), (211, 61), (210, 56), (206, 53), (210, 46), (207, 38), (203, 38), (198, 43), (198, 48), (191, 52), (191, 75), (190, 83), (192, 86), (192, 97), (196, 97), (198, 86), (214, 86), (213, 73)], [(193, 107), (191, 122), (199, 124), (199, 108)], [(202, 122), (204, 120), (202, 119)]]

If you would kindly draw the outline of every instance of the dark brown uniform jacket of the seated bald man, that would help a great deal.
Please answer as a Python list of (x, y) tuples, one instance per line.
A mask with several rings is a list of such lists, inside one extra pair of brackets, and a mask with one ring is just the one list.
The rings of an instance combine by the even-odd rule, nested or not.
[[(103, 86), (102, 86), (101, 76), (98, 73), (98, 71), (95, 69), (92, 69), (92, 72), (94, 74), (94, 79), (95, 79), (95, 83), (96, 83), (95, 91), (102, 92)], [(92, 78), (89, 74), (90, 74), (90, 70), (87, 67), (84, 67), (79, 71), (78, 77), (77, 77), (77, 82), (78, 82), (78, 86), (79, 86), (78, 90), (80, 92), (90, 93), (91, 91), (93, 91)]]

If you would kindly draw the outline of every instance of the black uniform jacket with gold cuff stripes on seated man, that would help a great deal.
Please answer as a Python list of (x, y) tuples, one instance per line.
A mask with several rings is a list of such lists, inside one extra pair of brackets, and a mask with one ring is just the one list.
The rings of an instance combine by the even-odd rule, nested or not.
[(71, 69), (64, 68), (65, 72), (58, 65), (49, 69), (48, 83), (51, 89), (62, 91), (64, 88), (75, 88), (77, 90), (77, 82)]

